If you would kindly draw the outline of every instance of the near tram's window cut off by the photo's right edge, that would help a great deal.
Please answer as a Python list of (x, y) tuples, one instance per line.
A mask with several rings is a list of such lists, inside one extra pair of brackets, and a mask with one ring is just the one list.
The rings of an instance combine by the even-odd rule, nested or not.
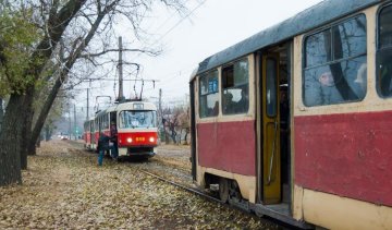
[(392, 5), (380, 11), (378, 22), (377, 90), (392, 97)]

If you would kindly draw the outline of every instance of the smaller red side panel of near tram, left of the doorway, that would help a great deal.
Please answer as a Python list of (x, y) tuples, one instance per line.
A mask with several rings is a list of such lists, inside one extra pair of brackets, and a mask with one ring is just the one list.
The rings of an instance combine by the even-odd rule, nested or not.
[(199, 165), (255, 175), (255, 121), (197, 124)]

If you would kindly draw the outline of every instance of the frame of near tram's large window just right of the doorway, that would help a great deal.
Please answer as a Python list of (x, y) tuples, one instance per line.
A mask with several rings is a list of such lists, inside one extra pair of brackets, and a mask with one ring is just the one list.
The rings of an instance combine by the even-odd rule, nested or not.
[[(333, 27), (336, 27), (339, 25), (342, 25), (351, 20), (354, 20), (356, 17), (359, 17), (359, 16), (364, 16), (365, 17), (365, 23), (366, 23), (366, 51), (364, 53), (356, 53), (355, 56), (352, 56), (352, 57), (348, 57), (348, 58), (340, 58), (340, 59), (336, 59), (334, 60), (334, 49), (333, 49), (333, 46), (334, 46), (334, 40), (333, 40)], [(367, 62), (367, 57), (368, 57), (368, 31), (369, 31), (369, 27), (367, 26), (367, 22), (368, 22), (368, 19), (367, 19), (367, 15), (364, 13), (364, 12), (358, 12), (356, 14), (352, 14), (350, 16), (345, 16), (343, 19), (340, 19), (340, 20), (336, 20), (335, 22), (332, 22), (332, 23), (329, 23), (329, 24), (326, 24), (319, 28), (317, 28), (316, 31), (313, 31), (311, 33), (308, 33), (308, 34), (304, 34), (303, 36), (303, 39), (302, 39), (302, 102), (305, 107), (307, 108), (311, 108), (311, 107), (326, 107), (326, 106), (335, 106), (335, 105), (342, 105), (342, 104), (353, 104), (353, 102), (360, 102), (363, 101), (365, 98), (366, 98), (366, 95), (368, 93), (368, 78), (369, 76), (366, 76), (366, 80), (367, 80), (367, 84), (366, 84), (366, 92), (364, 94), (364, 97), (363, 98), (359, 98), (358, 100), (342, 100), (342, 101), (339, 101), (339, 102), (334, 102), (334, 104), (326, 104), (326, 105), (313, 105), (313, 106), (308, 106), (306, 105), (305, 102), (305, 72), (307, 70), (310, 70), (310, 69), (316, 69), (316, 68), (321, 68), (321, 66), (324, 66), (324, 65), (331, 65), (331, 64), (336, 64), (336, 63), (342, 63), (343, 61), (351, 61), (353, 59), (357, 59), (357, 58), (360, 58), (360, 57), (366, 57), (366, 64), (368, 64)], [(306, 41), (307, 41), (307, 38), (310, 37), (310, 36), (314, 36), (314, 35), (317, 35), (321, 32), (324, 32), (324, 31), (329, 31), (330, 34), (331, 34), (331, 61), (327, 61), (322, 64), (317, 64), (317, 65), (311, 65), (310, 68), (308, 68), (306, 64), (307, 64), (307, 53), (306, 53)]]

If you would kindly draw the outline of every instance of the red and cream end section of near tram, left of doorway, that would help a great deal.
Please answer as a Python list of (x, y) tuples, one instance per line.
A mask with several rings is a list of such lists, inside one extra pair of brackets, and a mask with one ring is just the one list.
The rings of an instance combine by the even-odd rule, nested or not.
[[(230, 89), (224, 86), (225, 72), (230, 72), (230, 68), (236, 64), (244, 64), (246, 73), (244, 75), (245, 84), (237, 86), (231, 85)], [(247, 69), (248, 68), (248, 69)], [(209, 81), (209, 88), (206, 92), (203, 77), (215, 78)], [(234, 76), (235, 77), (235, 76)], [(200, 80), (201, 78), (201, 80)], [(226, 83), (228, 84), (228, 83)], [(234, 83), (236, 84), (236, 83)], [(250, 203), (256, 201), (256, 119), (255, 119), (255, 94), (254, 85), (254, 57), (248, 56), (236, 60), (234, 63), (211, 70), (208, 73), (195, 76), (192, 85), (194, 87), (194, 112), (195, 112), (195, 160), (193, 165), (196, 167), (196, 182), (201, 187), (209, 187), (209, 184), (219, 183), (220, 179), (236, 182), (243, 198)], [(200, 93), (200, 90), (203, 90)], [(247, 102), (234, 104), (242, 105), (242, 110), (229, 113), (223, 111), (228, 109), (231, 99), (226, 97), (233, 94), (236, 99), (244, 98), (242, 93), (249, 95)], [(241, 93), (241, 94), (240, 94)], [(217, 102), (203, 100), (206, 94), (218, 94), (215, 98)], [(212, 97), (213, 98), (213, 97)], [(228, 99), (229, 98), (229, 99)], [(206, 98), (204, 98), (206, 99)], [(200, 104), (205, 107), (200, 109)], [(213, 106), (213, 104), (216, 106)], [(226, 105), (228, 107), (224, 107)], [(212, 106), (212, 107), (210, 107)], [(218, 107), (218, 110), (216, 110)], [(207, 109), (206, 109), (207, 108)], [(215, 112), (210, 112), (210, 110)], [(226, 113), (225, 113), (226, 112)], [(229, 113), (229, 114), (228, 114)], [(218, 180), (219, 179), (219, 180)], [(211, 181), (212, 180), (212, 181)]]

